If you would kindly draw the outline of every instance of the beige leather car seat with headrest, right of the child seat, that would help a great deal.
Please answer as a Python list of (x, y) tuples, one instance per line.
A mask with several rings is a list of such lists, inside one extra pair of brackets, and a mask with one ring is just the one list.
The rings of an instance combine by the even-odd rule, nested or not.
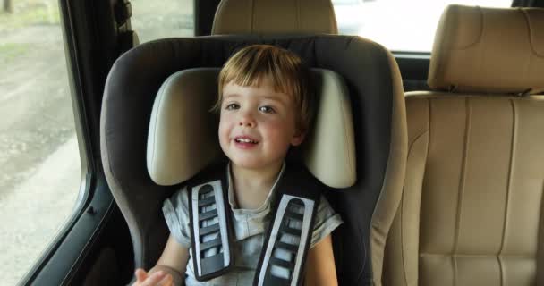
[(544, 10), (447, 7), (428, 82), (385, 284), (544, 285)]

